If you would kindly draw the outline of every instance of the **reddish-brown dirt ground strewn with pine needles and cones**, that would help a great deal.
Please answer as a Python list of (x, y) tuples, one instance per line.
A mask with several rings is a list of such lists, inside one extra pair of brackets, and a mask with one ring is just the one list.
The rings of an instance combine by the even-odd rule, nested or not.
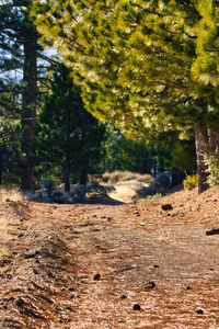
[(215, 189), (122, 205), (8, 200), (0, 230), (0, 328), (219, 328)]

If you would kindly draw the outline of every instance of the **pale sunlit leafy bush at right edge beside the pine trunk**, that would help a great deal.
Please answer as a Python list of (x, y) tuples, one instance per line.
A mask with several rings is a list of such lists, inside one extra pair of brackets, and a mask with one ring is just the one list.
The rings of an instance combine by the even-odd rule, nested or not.
[(219, 189), (219, 156), (210, 155), (205, 157), (205, 163), (208, 167), (208, 184)]

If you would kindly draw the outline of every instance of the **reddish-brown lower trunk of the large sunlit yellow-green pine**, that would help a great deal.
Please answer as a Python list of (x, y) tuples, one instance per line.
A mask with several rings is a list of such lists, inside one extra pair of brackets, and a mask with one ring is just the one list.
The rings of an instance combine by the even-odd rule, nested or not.
[(197, 171), (198, 171), (198, 193), (206, 191), (209, 185), (207, 183), (208, 173), (206, 172), (206, 164), (204, 162), (205, 154), (208, 154), (208, 133), (206, 127), (197, 128), (195, 132)]

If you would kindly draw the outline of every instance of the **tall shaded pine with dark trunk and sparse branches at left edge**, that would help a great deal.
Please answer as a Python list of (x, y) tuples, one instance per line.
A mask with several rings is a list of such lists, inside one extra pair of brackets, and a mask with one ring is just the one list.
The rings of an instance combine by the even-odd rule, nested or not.
[[(11, 132), (8, 126), (18, 127), (20, 121), (20, 134), (14, 138), (20, 159), (13, 166), (19, 169), (21, 189), (33, 192), (35, 163), (32, 145), (41, 97), (37, 80), (42, 71), (37, 59), (46, 56), (37, 43), (38, 33), (30, 16), (31, 5), (31, 0), (5, 1), (0, 5), (0, 116), (4, 136), (5, 132)], [(2, 147), (5, 151), (5, 145)]]

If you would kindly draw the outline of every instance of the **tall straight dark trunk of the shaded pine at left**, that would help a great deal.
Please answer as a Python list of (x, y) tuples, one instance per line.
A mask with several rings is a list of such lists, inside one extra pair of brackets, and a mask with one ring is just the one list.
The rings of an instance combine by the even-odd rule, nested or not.
[(26, 13), (24, 32), (23, 106), (22, 106), (22, 173), (21, 189), (34, 192), (35, 166), (32, 145), (36, 122), (37, 98), (37, 32)]

